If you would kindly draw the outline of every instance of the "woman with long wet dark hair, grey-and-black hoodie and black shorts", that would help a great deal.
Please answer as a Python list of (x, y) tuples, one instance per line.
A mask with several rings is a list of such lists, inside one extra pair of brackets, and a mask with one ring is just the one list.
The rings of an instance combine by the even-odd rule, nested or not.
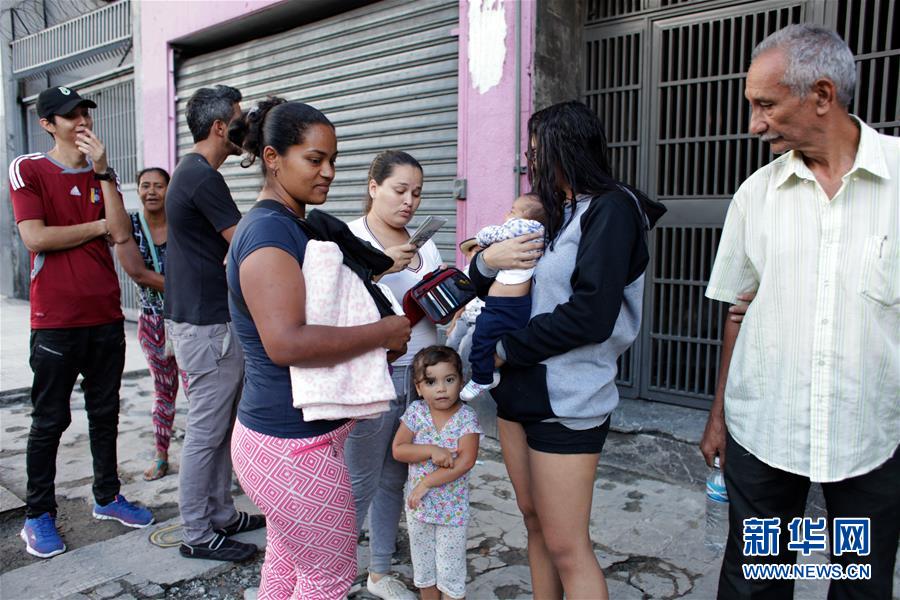
[(653, 203), (613, 176), (603, 126), (584, 104), (538, 111), (528, 132), (545, 236), (493, 244), (469, 274), (484, 295), (500, 270), (535, 269), (531, 318), (500, 338), (491, 390), (534, 597), (607, 598), (591, 502), (619, 400), (616, 361), (640, 329)]

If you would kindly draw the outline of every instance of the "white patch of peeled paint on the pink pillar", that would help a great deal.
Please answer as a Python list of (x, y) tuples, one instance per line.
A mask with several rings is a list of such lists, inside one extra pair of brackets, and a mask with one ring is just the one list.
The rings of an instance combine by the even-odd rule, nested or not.
[(503, 0), (469, 0), (468, 54), (469, 78), (478, 93), (484, 94), (500, 83), (506, 61)]

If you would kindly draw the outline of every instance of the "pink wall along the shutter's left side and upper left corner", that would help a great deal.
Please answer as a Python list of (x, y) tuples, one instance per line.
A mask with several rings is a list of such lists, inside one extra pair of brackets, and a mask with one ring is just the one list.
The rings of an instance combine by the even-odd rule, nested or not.
[(175, 167), (175, 86), (171, 42), (281, 0), (145, 0), (136, 56), (142, 165)]

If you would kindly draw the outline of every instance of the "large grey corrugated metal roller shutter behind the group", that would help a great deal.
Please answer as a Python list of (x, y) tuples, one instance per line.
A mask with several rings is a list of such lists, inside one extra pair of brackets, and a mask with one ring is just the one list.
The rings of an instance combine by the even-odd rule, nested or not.
[[(345, 220), (362, 214), (366, 173), (381, 150), (415, 156), (425, 170), (421, 207), (447, 217), (436, 236), (452, 260), (456, 231), (456, 108), (459, 21), (456, 0), (387, 1), (185, 60), (177, 70), (178, 155), (191, 147), (184, 118), (190, 95), (223, 83), (243, 106), (277, 95), (322, 110), (338, 135), (337, 178), (325, 209)], [(235, 200), (247, 210), (260, 188), (258, 166), (222, 167)]]

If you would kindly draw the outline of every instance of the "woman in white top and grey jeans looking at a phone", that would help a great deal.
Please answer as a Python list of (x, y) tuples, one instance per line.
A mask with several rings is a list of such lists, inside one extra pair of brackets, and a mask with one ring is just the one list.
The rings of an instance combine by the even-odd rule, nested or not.
[[(429, 240), (420, 249), (409, 243), (407, 225), (419, 208), (422, 165), (405, 152), (385, 150), (369, 167), (365, 216), (352, 221), (350, 229), (394, 259), (394, 268), (382, 276), (398, 302), (422, 277), (441, 265), (441, 255)], [(415, 595), (390, 575), (396, 550), (397, 528), (403, 512), (403, 484), (407, 466), (394, 460), (391, 442), (400, 416), (415, 388), (410, 383), (410, 363), (421, 348), (437, 342), (437, 329), (422, 319), (412, 329), (407, 352), (393, 362), (397, 398), (389, 411), (377, 419), (360, 421), (347, 439), (345, 455), (356, 521), (362, 531), (369, 515), (369, 593), (385, 599), (414, 600)], [(371, 511), (370, 511), (371, 508)]]

